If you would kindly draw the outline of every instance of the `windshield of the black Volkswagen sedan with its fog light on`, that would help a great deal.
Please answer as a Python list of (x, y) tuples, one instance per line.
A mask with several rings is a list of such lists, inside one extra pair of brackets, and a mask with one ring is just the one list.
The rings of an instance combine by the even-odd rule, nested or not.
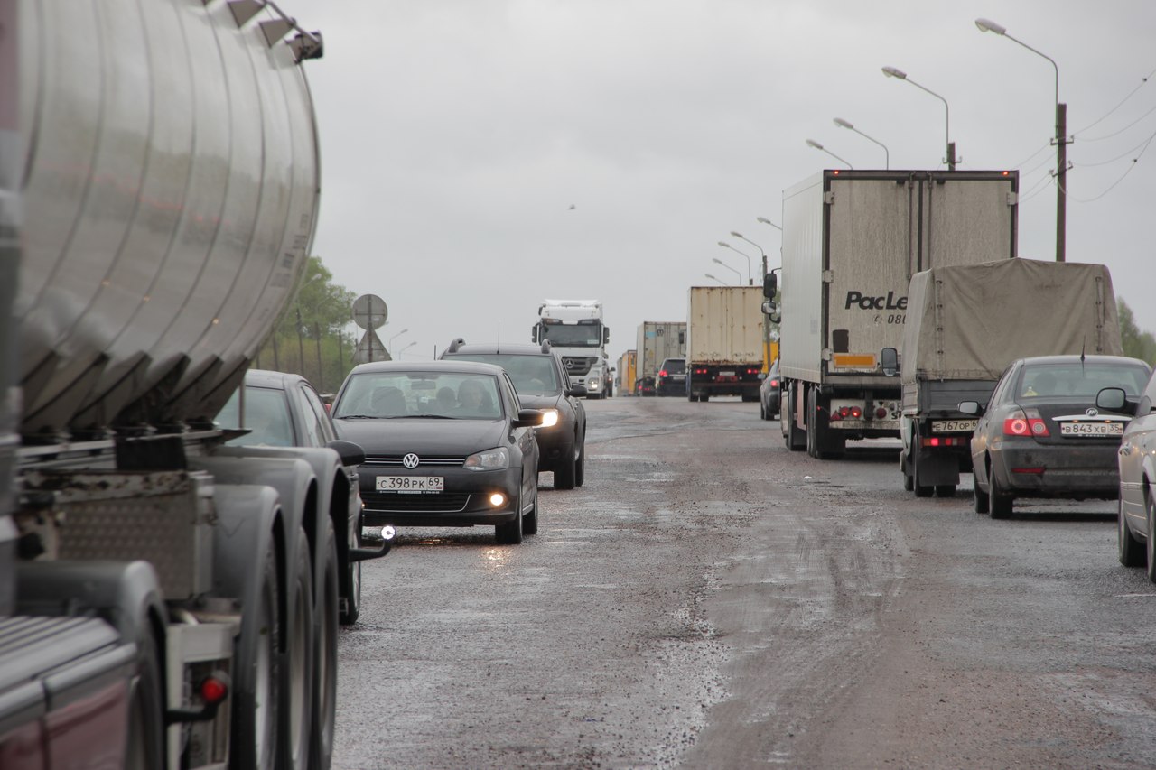
[(499, 420), (502, 399), (491, 375), (368, 371), (350, 377), (333, 405), (333, 417)]

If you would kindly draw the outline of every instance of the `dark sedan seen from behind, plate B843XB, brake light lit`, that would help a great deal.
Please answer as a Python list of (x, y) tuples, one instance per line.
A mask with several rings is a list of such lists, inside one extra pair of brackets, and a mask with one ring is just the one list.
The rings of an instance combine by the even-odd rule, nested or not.
[(976, 511), (1006, 518), (1017, 497), (1117, 497), (1117, 450), (1132, 417), (1098, 408), (1096, 394), (1119, 387), (1135, 398), (1150, 371), (1122, 356), (1021, 358), (986, 408), (961, 403), (979, 417), (971, 438)]

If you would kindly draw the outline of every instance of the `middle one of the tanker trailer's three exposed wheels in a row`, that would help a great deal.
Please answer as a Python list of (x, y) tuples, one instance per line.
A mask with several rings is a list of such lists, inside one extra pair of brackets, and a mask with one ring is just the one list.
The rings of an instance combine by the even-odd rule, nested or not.
[(310, 738), (313, 732), (313, 564), (309, 558), (309, 540), (302, 530), (297, 533), (297, 563), (288, 575), (296, 584), (295, 601), (290, 607), (290, 627), (287, 637), (286, 662), (282, 672), (282, 728), (290, 763), (294, 770), (309, 767)]

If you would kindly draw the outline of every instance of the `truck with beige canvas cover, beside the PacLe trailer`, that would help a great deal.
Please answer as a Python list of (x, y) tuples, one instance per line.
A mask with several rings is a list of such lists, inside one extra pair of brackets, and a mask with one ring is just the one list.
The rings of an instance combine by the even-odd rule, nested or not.
[(881, 353), (903, 388), (904, 489), (955, 494), (977, 422), (958, 405), (987, 403), (1011, 362), (1081, 353), (1124, 355), (1103, 265), (1005, 259), (916, 273), (902, 345)]

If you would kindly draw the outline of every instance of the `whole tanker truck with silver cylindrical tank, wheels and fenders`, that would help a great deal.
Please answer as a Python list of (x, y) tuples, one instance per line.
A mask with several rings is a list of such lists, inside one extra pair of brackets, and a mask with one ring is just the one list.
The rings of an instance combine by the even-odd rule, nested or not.
[(364, 453), (214, 422), (312, 240), (320, 55), (261, 0), (0, 2), (6, 770), (329, 765)]

